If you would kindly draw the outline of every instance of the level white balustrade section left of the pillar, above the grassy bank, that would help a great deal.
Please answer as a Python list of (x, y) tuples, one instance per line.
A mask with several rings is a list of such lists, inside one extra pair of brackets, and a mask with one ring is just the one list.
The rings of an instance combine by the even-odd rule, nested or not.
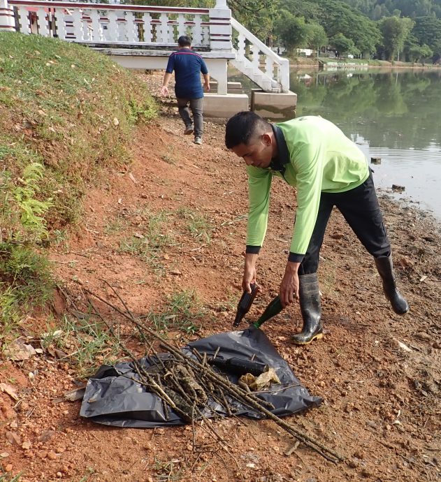
[(22, 34), (57, 36), (80, 43), (176, 45), (188, 35), (195, 47), (210, 46), (210, 10), (157, 6), (8, 0)]

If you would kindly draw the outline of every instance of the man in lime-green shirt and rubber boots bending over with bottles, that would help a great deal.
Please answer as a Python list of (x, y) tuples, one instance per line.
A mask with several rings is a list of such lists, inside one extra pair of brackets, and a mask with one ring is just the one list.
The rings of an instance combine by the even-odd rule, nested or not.
[(333, 207), (345, 217), (374, 257), (393, 311), (409, 305), (393, 276), (391, 244), (379, 210), (372, 173), (361, 150), (322, 117), (270, 124), (254, 112), (238, 112), (226, 124), (225, 145), (247, 164), (250, 209), (243, 289), (256, 282), (256, 259), (268, 223), (273, 176), (297, 190), (294, 233), (279, 295), (283, 306), (298, 299), (303, 329), (293, 337), (308, 344), (323, 336), (317, 269), (319, 251)]

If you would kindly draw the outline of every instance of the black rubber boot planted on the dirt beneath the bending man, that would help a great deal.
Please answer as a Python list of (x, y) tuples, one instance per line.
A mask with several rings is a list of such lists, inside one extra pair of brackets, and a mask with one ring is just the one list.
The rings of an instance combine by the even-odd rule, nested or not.
[(307, 345), (315, 339), (323, 338), (319, 282), (317, 273), (300, 275), (298, 281), (303, 328), (292, 337), (292, 341), (298, 345)]

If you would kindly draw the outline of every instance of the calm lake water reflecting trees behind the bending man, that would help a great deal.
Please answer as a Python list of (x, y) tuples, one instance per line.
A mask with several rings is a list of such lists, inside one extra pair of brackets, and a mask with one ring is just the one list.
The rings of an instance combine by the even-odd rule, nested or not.
[[(245, 92), (252, 83), (243, 77)], [(291, 71), (297, 117), (321, 115), (356, 142), (370, 162), (380, 157), (377, 187), (405, 187), (394, 197), (441, 220), (441, 70)]]

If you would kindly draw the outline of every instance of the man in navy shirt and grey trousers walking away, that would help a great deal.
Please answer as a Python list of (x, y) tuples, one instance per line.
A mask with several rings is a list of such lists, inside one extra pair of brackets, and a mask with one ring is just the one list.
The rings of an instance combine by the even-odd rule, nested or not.
[[(175, 95), (178, 100), (179, 114), (184, 121), (184, 133), (189, 135), (194, 132), (194, 143), (202, 144), (203, 135), (203, 85), (207, 92), (210, 91), (210, 75), (203, 58), (191, 50), (191, 40), (187, 36), (178, 38), (179, 50), (168, 57), (168, 64), (164, 81), (162, 82), (161, 95), (168, 95), (168, 82), (175, 71)], [(190, 110), (193, 115), (191, 121)]]

